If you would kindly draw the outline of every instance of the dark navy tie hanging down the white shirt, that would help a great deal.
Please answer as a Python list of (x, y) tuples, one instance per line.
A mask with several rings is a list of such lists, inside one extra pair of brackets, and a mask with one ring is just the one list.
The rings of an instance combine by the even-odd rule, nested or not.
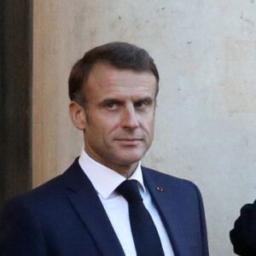
[(125, 180), (116, 191), (129, 205), (131, 232), (137, 256), (165, 255), (153, 219), (143, 204), (136, 180)]

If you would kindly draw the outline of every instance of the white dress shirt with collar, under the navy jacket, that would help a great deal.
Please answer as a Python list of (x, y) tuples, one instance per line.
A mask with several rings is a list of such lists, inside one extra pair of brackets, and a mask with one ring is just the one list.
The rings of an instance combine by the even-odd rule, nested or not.
[[(122, 195), (118, 195), (114, 191), (120, 183), (125, 181), (126, 178), (118, 172), (115, 172), (106, 166), (102, 166), (102, 164), (91, 159), (90, 156), (85, 153), (84, 149), (82, 150), (79, 158), (79, 165), (96, 189), (96, 192), (102, 201), (102, 205), (113, 226), (113, 230), (118, 236), (120, 244), (123, 247), (125, 255), (136, 256), (137, 253), (132, 238), (129, 220), (128, 203)], [(148, 189), (144, 186), (141, 162), (139, 162), (137, 169), (129, 179), (135, 179), (140, 184), (139, 190), (143, 197), (143, 203), (154, 220), (165, 255), (174, 256), (172, 245), (166, 233), (164, 224), (161, 221), (159, 213), (154, 207), (154, 203)], [(106, 236), (108, 236), (108, 234), (106, 234)]]

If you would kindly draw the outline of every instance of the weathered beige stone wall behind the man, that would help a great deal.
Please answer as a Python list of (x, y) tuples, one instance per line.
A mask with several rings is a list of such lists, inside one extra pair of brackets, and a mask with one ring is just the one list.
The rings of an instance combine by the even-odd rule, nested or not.
[(256, 7), (236, 1), (35, 0), (33, 185), (83, 147), (67, 78), (84, 51), (113, 40), (148, 49), (160, 70), (156, 136), (144, 165), (195, 182), (211, 255), (233, 255), (229, 230), (256, 197)]

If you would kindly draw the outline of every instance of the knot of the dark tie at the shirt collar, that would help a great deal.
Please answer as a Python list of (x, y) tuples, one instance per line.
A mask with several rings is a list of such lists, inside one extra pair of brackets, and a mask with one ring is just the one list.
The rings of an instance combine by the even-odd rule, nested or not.
[(123, 195), (125, 197), (125, 200), (128, 201), (128, 203), (131, 203), (133, 201), (143, 201), (136, 180), (126, 179), (123, 183), (120, 183), (115, 190), (120, 195)]

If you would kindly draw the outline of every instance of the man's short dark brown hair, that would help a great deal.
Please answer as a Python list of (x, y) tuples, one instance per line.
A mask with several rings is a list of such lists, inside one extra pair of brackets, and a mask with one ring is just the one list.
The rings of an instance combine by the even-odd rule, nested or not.
[(74, 64), (68, 79), (68, 91), (71, 101), (78, 102), (83, 107), (86, 107), (84, 84), (86, 84), (92, 67), (99, 62), (119, 69), (132, 69), (137, 72), (151, 71), (156, 79), (155, 96), (157, 96), (159, 73), (154, 60), (148, 55), (148, 52), (134, 44), (113, 42), (90, 49), (82, 59)]

